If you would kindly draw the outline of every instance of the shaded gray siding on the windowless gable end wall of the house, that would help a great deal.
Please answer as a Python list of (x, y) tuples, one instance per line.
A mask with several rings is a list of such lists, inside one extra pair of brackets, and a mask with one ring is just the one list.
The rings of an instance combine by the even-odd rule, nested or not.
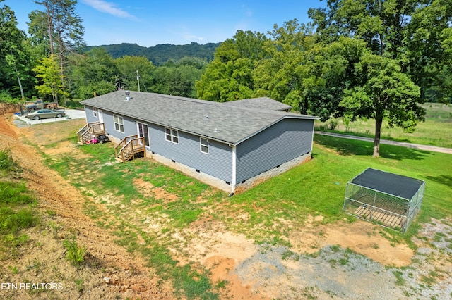
[(240, 183), (312, 151), (314, 120), (284, 119), (237, 145)]

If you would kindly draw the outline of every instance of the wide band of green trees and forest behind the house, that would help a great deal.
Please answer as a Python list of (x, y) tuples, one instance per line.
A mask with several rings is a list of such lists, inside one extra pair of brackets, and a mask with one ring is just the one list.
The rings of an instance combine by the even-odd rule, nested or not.
[[(374, 156), (383, 119), (410, 132), (424, 120), (419, 104), (452, 99), (452, 0), (328, 0), (309, 9), (307, 24), (239, 30), (213, 59), (167, 60), (134, 44), (114, 56), (105, 46), (86, 51), (76, 0), (35, 2), (42, 10), (30, 13), (28, 35), (0, 8), (2, 99), (66, 102), (119, 87), (210, 101), (268, 96), (321, 120), (373, 118)], [(121, 55), (127, 46), (136, 52)]]

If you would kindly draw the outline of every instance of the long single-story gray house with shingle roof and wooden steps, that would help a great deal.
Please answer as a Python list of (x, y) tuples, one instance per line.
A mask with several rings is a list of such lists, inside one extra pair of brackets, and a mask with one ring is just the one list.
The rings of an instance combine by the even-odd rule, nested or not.
[(87, 121), (81, 133), (105, 132), (119, 142), (117, 157), (134, 143), (145, 155), (228, 192), (311, 158), (316, 117), (288, 113), (290, 106), (270, 98), (218, 103), (119, 90), (81, 103)]

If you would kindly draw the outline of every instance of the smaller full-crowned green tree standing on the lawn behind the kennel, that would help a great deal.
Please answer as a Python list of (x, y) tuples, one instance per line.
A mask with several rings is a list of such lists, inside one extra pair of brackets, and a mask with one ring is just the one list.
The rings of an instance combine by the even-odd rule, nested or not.
[(383, 118), (388, 125), (403, 127), (412, 132), (420, 120), (424, 120), (424, 108), (417, 105), (420, 87), (400, 71), (400, 65), (391, 58), (363, 54), (355, 64), (360, 83), (345, 89), (340, 106), (346, 108), (352, 119), (374, 118), (374, 157), (380, 155), (380, 137)]

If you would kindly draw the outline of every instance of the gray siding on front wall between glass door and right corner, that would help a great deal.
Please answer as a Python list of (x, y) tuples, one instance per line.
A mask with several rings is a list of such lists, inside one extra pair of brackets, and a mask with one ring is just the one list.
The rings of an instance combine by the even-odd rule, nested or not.
[(201, 152), (199, 137), (179, 131), (179, 144), (165, 139), (165, 127), (149, 124), (150, 151), (214, 177), (232, 182), (232, 148), (209, 139), (209, 154)]

